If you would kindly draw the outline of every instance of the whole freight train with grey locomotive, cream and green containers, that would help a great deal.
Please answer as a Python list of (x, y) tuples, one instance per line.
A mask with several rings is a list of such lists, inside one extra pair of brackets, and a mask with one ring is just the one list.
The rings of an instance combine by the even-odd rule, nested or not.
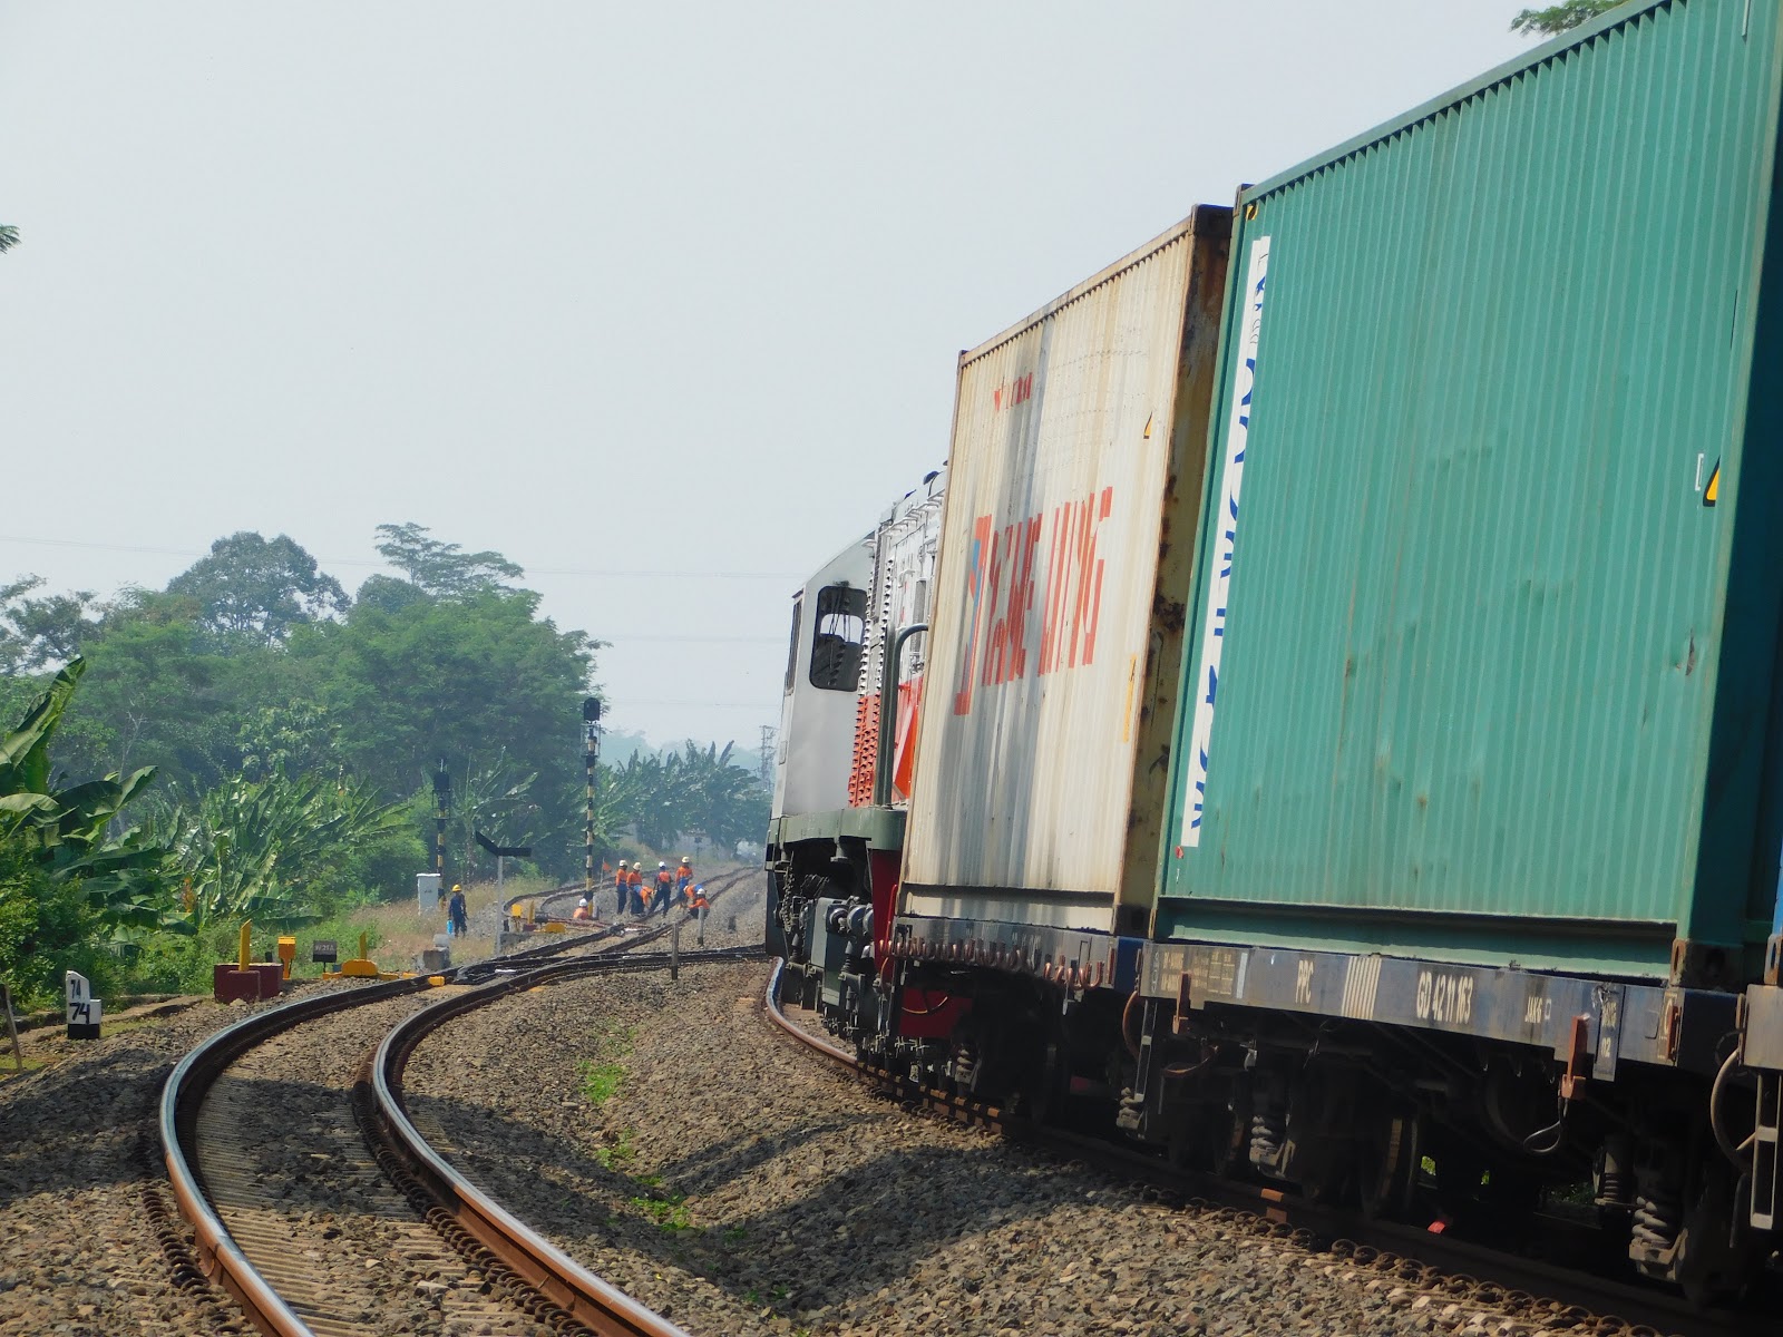
[(1779, 14), (1623, 5), (963, 353), (945, 474), (793, 603), (788, 1002), (1371, 1214), (1571, 1185), (1631, 1271), (1776, 1267)]

